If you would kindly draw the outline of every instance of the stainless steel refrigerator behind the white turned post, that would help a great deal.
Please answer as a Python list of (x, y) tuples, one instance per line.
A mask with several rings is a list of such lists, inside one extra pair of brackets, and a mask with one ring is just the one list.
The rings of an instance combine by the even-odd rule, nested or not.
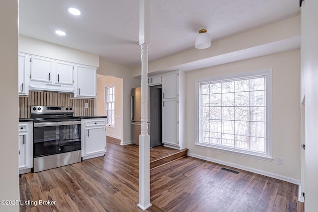
[[(141, 134), (141, 87), (131, 90), (132, 143), (139, 145)], [(148, 86), (148, 134), (150, 147), (162, 145), (161, 88)]]

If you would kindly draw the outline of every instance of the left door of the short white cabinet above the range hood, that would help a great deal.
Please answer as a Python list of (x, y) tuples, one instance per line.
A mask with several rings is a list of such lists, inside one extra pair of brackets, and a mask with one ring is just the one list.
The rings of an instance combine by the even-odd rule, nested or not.
[(54, 62), (48, 58), (31, 57), (31, 81), (52, 83)]

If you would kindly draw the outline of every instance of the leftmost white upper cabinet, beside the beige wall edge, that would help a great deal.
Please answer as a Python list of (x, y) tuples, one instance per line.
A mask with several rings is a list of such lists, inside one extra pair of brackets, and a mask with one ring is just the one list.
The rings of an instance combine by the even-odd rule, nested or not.
[(29, 95), (30, 56), (19, 53), (18, 56), (18, 92), (19, 95)]

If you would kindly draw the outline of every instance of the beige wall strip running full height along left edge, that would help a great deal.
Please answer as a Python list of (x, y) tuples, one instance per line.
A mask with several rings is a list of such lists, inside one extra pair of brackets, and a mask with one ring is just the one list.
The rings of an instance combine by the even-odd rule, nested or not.
[[(17, 0), (1, 0), (0, 26), (0, 200), (19, 200)], [(19, 206), (0, 205), (0, 211), (18, 212)]]

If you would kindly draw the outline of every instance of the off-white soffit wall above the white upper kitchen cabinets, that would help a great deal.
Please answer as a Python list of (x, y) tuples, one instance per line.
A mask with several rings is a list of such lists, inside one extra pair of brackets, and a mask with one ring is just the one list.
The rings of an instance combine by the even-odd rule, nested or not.
[(99, 67), (99, 56), (19, 35), (19, 52)]

